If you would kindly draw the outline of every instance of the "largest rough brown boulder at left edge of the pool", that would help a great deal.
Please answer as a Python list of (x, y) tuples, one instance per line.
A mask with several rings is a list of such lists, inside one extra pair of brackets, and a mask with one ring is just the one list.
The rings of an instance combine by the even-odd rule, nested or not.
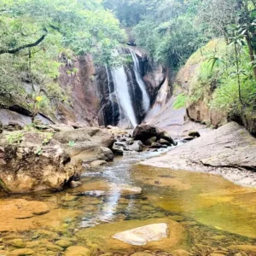
[[(4, 131), (0, 138), (0, 187), (10, 193), (60, 190), (80, 174), (80, 161), (49, 134)], [(46, 141), (47, 140), (47, 143)]]

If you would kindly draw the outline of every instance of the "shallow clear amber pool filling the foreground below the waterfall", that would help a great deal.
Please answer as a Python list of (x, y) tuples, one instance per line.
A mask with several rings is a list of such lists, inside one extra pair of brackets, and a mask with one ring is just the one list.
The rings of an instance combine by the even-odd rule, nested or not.
[[(85, 255), (66, 251), (72, 246), (86, 247), (91, 255), (131, 255), (145, 250), (169, 255), (177, 249), (192, 255), (235, 255), (241, 250), (237, 245), (244, 245), (242, 253), (254, 255), (256, 189), (242, 188), (219, 176), (137, 165), (157, 154), (129, 154), (86, 171), (82, 186), (76, 189), (2, 194), (0, 255), (12, 255), (8, 253), (17, 248), (34, 255)], [(127, 184), (141, 187), (143, 194), (121, 193), (120, 187)], [(83, 194), (90, 190), (106, 193), (99, 197)], [(112, 238), (120, 231), (159, 223), (169, 225), (168, 237), (162, 241), (132, 246)]]

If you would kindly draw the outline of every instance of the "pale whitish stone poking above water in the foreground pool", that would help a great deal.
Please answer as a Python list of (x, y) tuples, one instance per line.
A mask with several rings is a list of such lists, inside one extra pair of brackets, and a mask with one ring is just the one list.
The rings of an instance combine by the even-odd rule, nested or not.
[(167, 236), (168, 225), (166, 223), (160, 223), (120, 232), (112, 236), (112, 238), (131, 245), (143, 246), (150, 241), (160, 241)]

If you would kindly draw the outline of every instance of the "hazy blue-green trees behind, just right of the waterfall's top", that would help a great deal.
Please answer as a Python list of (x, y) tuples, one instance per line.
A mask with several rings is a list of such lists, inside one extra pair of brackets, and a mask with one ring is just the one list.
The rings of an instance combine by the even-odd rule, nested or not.
[(150, 9), (134, 28), (136, 43), (156, 61), (177, 69), (201, 44), (207, 42), (201, 26), (195, 26), (201, 2), (163, 0)]

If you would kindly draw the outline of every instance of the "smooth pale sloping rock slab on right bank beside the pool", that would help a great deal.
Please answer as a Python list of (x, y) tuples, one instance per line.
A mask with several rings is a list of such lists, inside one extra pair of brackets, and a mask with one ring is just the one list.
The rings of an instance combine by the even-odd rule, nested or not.
[(218, 174), (234, 183), (256, 187), (255, 155), (255, 137), (231, 122), (142, 164)]

